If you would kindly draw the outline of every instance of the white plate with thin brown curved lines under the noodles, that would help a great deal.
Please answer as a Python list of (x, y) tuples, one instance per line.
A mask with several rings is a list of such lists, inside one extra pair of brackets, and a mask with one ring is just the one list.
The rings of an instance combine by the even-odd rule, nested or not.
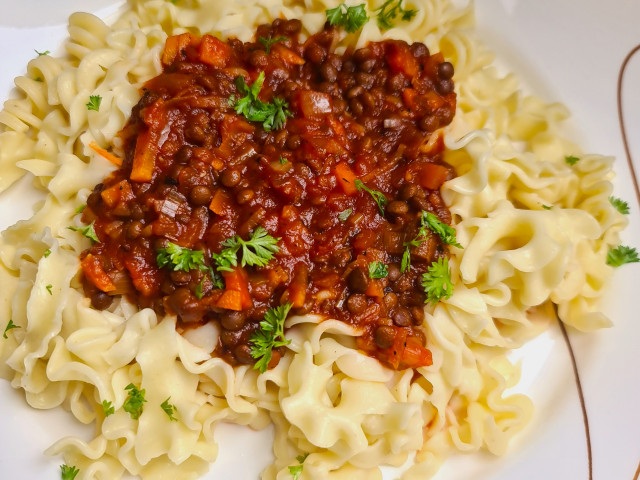
[[(117, 0), (23, 0), (3, 2), (0, 18), (0, 99), (9, 94), (12, 79), (25, 71), (39, 51), (55, 51), (66, 34), (66, 18), (89, 9), (106, 15)], [(615, 5), (612, 5), (615, 4)], [(476, 6), (481, 38), (498, 54), (501, 64), (515, 71), (532, 90), (549, 101), (561, 101), (574, 114), (585, 151), (616, 157), (615, 194), (631, 205), (630, 225), (623, 243), (640, 247), (640, 204), (631, 182), (621, 140), (616, 106), (618, 71), (628, 52), (640, 44), (637, 21), (640, 2), (633, 0), (482, 0)], [(623, 106), (636, 169), (640, 171), (640, 52), (628, 64)], [(25, 182), (22, 182), (25, 183)], [(0, 202), (0, 227), (29, 215), (13, 188)], [(637, 480), (640, 469), (640, 322), (638, 294), (640, 264), (616, 273), (605, 311), (615, 326), (582, 335), (570, 331), (582, 381), (591, 444), (571, 359), (559, 328), (545, 333), (521, 352), (520, 389), (536, 404), (531, 425), (500, 458), (457, 455), (437, 479), (512, 480), (579, 479)], [(1, 288), (1, 286), (0, 286)], [(0, 321), (2, 323), (2, 321)], [(0, 339), (1, 341), (1, 339)], [(64, 435), (91, 435), (61, 411), (35, 411), (23, 395), (0, 382), (2, 428), (0, 472), (3, 478), (59, 478), (60, 459), (42, 451)], [(220, 456), (205, 478), (258, 478), (269, 462), (270, 433), (247, 434), (239, 427), (221, 429)]]

